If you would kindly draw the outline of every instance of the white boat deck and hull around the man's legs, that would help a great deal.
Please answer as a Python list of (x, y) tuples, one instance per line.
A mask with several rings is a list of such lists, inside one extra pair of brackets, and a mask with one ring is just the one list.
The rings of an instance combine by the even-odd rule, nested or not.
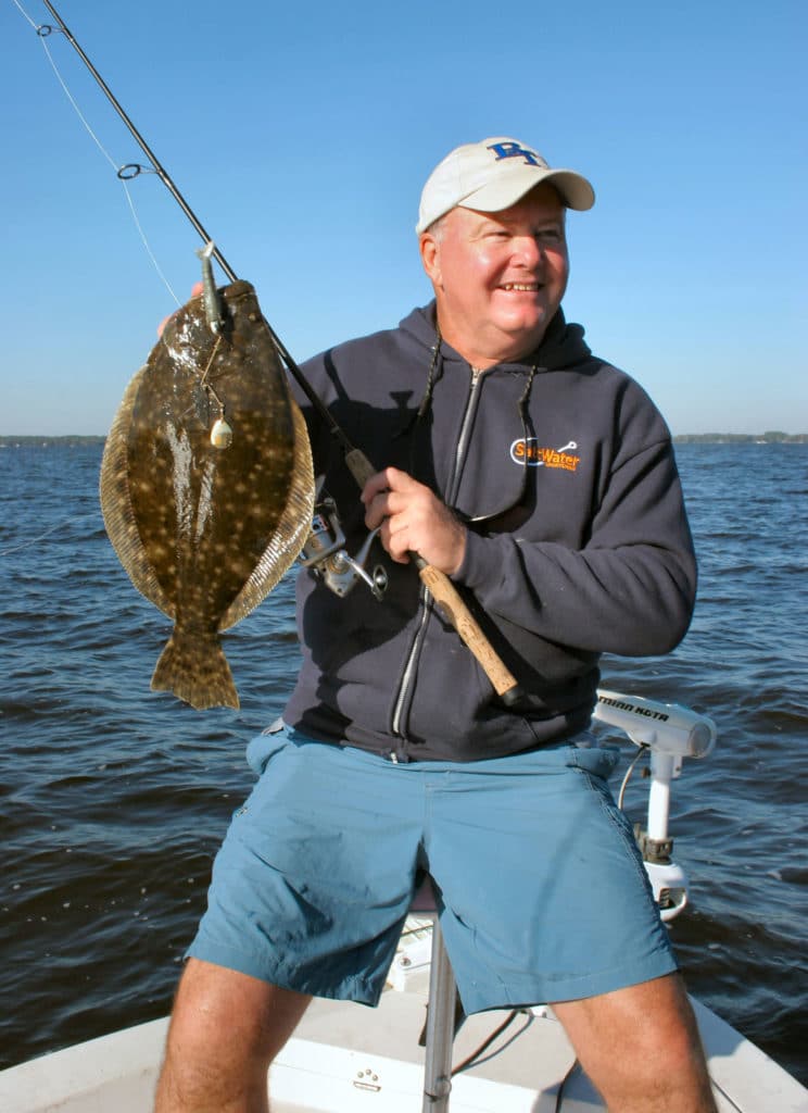
[[(709, 1009), (695, 1005), (720, 1113), (808, 1113), (805, 1087)], [(476, 1051), (507, 1015), (469, 1017), (455, 1043), (455, 1063)], [(273, 1113), (417, 1113), (423, 1018), (420, 993), (388, 992), (378, 1009), (315, 1002), (272, 1067)], [(0, 1110), (150, 1113), (167, 1024), (153, 1021), (1, 1072)], [(600, 1113), (603, 1105), (573, 1066), (561, 1026), (549, 1011), (538, 1011), (520, 1014), (473, 1067), (455, 1076), (450, 1109)]]

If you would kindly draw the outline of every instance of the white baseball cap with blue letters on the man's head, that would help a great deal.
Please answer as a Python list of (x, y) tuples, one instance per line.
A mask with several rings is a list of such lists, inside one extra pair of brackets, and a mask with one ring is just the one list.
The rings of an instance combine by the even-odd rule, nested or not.
[(541, 181), (555, 186), (567, 208), (583, 210), (595, 204), (595, 190), (585, 177), (575, 170), (553, 170), (538, 151), (518, 139), (493, 136), (463, 144), (449, 151), (427, 178), (416, 232), (420, 236), (458, 205), (498, 213), (516, 205)]

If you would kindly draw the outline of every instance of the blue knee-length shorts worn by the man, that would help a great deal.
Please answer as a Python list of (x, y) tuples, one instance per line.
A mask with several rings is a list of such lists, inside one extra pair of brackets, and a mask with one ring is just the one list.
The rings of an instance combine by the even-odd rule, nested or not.
[(396, 765), (290, 728), (260, 735), (248, 748), (259, 780), (188, 954), (376, 1004), (428, 870), (469, 1014), (670, 973), (667, 929), (606, 784), (617, 754), (591, 740)]

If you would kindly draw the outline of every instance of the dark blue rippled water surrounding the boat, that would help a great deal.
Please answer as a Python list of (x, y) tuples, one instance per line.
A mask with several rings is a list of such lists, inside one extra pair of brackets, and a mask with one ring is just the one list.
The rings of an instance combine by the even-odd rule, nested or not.
[[(167, 623), (107, 541), (100, 452), (0, 450), (0, 1067), (168, 1012), (243, 747), (298, 659), (287, 578), (227, 637), (240, 711), (149, 691)], [(716, 719), (674, 786), (672, 937), (691, 992), (808, 1084), (808, 445), (678, 456), (692, 628), (669, 658), (607, 660), (603, 686)], [(635, 779), (634, 818), (644, 800)]]

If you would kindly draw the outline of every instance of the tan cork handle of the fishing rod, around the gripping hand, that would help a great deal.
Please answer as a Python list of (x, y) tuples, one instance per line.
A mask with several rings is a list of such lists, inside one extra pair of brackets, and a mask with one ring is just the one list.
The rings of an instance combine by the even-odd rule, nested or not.
[[(377, 469), (373, 467), (361, 449), (351, 449), (346, 453), (345, 460), (360, 489), (365, 486), (371, 475), (376, 474)], [(510, 707), (516, 703), (522, 695), (518, 681), (506, 668), (449, 577), (435, 565), (428, 564), (418, 553), (410, 555), (418, 569), (421, 583), (431, 592), (440, 613), (447, 622), (455, 627), (460, 640), (473, 653), (491, 681), (493, 690), (506, 706)]]

